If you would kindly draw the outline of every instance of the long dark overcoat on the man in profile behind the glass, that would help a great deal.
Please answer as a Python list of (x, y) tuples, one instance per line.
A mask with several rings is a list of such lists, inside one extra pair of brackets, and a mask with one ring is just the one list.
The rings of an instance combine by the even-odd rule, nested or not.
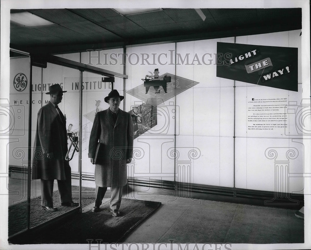
[[(64, 164), (68, 151), (66, 121), (62, 120), (56, 108), (49, 101), (38, 112), (32, 179), (65, 180)], [(53, 159), (46, 157), (53, 152)]]

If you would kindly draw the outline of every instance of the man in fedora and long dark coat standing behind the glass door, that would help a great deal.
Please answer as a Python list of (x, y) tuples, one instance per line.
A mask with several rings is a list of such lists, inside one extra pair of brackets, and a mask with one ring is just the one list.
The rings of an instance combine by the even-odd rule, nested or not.
[(41, 206), (46, 211), (57, 211), (53, 207), (53, 183), (57, 179), (62, 206), (78, 206), (72, 201), (71, 168), (65, 160), (68, 151), (66, 119), (58, 104), (63, 99), (59, 84), (49, 86), (50, 100), (38, 111), (35, 136), (32, 179), (41, 179)]

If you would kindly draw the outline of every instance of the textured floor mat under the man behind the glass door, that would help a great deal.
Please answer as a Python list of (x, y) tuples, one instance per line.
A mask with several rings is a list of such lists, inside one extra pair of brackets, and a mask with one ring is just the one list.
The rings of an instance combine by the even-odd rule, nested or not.
[[(79, 187), (72, 186), (72, 192), (79, 191)], [(95, 192), (95, 188), (82, 187), (82, 192)], [(72, 200), (79, 202), (78, 197), (72, 197)], [(82, 197), (82, 207), (95, 201), (94, 197)], [(58, 207), (58, 211), (48, 212), (41, 208), (41, 196), (30, 200), (30, 228), (40, 225), (59, 215), (62, 215), (76, 207), (61, 206), (58, 190), (53, 192), (53, 206)], [(24, 229), (27, 229), (27, 201), (9, 206), (8, 208), (8, 235), (11, 236)]]

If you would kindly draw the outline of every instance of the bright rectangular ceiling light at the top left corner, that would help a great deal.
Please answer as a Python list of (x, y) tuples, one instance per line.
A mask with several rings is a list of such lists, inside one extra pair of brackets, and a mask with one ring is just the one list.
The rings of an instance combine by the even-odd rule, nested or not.
[(45, 20), (39, 16), (31, 14), (30, 12), (17, 12), (11, 13), (11, 21), (19, 23), (21, 25), (25, 25), (28, 27), (34, 26), (43, 26), (43, 25), (52, 25), (54, 23)]

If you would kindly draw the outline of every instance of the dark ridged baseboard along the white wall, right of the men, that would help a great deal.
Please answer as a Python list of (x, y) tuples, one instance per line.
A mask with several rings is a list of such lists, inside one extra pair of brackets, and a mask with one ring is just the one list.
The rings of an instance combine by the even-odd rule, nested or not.
[(193, 199), (274, 206), (298, 210), (304, 206), (303, 194), (188, 184), (147, 178), (128, 178), (128, 185), (139, 192), (170, 194), (177, 197)]

